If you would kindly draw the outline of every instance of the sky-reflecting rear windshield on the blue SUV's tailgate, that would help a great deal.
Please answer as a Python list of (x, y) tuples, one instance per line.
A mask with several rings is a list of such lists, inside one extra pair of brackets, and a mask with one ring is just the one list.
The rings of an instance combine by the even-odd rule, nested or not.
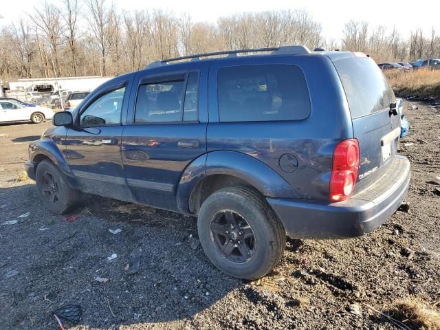
[(388, 80), (371, 58), (341, 58), (333, 63), (349, 102), (351, 118), (387, 109), (390, 102), (395, 102)]

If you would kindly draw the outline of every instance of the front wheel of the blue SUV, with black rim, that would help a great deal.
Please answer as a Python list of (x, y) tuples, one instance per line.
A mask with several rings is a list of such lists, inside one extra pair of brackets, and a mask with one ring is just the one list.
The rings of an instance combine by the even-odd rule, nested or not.
[(41, 161), (35, 174), (37, 192), (47, 210), (63, 214), (80, 201), (80, 191), (72, 189), (65, 177), (49, 160)]

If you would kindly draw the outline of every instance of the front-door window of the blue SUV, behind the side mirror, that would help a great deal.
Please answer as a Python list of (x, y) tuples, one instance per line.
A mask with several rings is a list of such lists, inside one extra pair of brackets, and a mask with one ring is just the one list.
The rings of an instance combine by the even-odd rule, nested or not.
[(124, 91), (125, 87), (116, 89), (92, 102), (89, 107), (81, 113), (81, 125), (102, 126), (120, 124)]

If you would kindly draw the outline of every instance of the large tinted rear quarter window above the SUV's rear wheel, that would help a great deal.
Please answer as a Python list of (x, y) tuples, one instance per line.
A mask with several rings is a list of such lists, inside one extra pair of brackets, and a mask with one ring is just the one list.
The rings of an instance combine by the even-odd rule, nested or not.
[(222, 122), (301, 120), (310, 113), (304, 74), (294, 65), (223, 67), (218, 98)]

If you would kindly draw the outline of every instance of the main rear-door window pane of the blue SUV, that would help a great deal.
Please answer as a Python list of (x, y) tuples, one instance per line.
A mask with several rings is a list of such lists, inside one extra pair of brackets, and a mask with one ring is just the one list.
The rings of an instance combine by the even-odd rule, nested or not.
[(180, 122), (184, 80), (141, 85), (137, 91), (135, 122)]

